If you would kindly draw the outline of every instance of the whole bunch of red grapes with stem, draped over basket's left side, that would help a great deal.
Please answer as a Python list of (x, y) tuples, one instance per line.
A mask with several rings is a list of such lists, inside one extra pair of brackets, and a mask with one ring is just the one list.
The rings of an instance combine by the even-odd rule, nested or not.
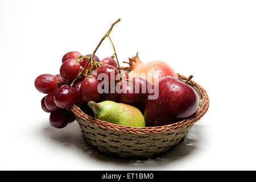
[[(35, 79), (35, 88), (47, 94), (42, 98), (41, 106), (44, 111), (51, 113), (49, 122), (53, 127), (63, 128), (75, 121), (75, 115), (69, 110), (73, 104), (88, 115), (92, 114), (87, 105), (89, 101), (109, 100), (136, 105), (138, 108), (145, 105), (144, 98), (148, 93), (139, 94), (136, 91), (149, 83), (143, 78), (129, 80), (128, 73), (119, 67), (117, 53), (109, 37), (113, 26), (120, 20), (112, 24), (92, 54), (83, 56), (77, 51), (68, 52), (62, 58), (60, 73), (43, 74)], [(112, 42), (114, 54), (100, 60), (95, 53), (107, 37)]]

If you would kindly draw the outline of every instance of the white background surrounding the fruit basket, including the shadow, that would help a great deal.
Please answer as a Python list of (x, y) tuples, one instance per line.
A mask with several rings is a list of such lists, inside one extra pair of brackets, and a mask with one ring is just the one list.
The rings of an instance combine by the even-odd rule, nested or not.
[[(0, 0), (0, 169), (256, 169), (255, 1)], [(111, 36), (119, 60), (163, 60), (203, 86), (208, 113), (183, 143), (151, 160), (110, 158), (74, 122), (51, 127), (34, 88), (68, 51), (92, 53)], [(108, 40), (96, 55), (112, 55)]]

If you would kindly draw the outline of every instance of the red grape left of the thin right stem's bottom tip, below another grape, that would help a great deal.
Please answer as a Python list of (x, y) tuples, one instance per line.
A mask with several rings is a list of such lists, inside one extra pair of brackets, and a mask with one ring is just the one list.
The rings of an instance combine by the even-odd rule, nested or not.
[[(100, 76), (100, 77), (99, 77)], [(119, 74), (117, 69), (115, 69), (112, 65), (104, 64), (100, 68), (98, 68), (97, 71), (97, 78), (100, 80), (104, 81), (105, 84), (112, 85), (116, 84), (120, 79), (119, 79)]]

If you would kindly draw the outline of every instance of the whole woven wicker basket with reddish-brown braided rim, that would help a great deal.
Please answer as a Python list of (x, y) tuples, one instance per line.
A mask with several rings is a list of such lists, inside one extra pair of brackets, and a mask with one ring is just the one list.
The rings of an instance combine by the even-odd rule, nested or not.
[[(122, 69), (127, 72), (130, 71), (129, 67), (122, 67)], [(180, 81), (185, 82), (187, 80), (187, 77), (177, 75)], [(82, 134), (93, 148), (122, 158), (153, 158), (179, 143), (187, 135), (193, 124), (199, 121), (208, 110), (209, 98), (204, 88), (192, 80), (188, 84), (199, 94), (199, 109), (191, 118), (171, 125), (154, 127), (115, 125), (86, 115), (76, 105), (70, 109), (76, 115), (76, 121), (79, 122)]]

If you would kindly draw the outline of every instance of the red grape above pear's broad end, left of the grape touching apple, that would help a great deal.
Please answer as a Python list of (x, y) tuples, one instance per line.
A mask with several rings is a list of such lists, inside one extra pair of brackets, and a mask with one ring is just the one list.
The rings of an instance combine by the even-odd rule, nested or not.
[(127, 81), (120, 81), (116, 86), (119, 100), (125, 104), (132, 104), (136, 99), (133, 84)]

